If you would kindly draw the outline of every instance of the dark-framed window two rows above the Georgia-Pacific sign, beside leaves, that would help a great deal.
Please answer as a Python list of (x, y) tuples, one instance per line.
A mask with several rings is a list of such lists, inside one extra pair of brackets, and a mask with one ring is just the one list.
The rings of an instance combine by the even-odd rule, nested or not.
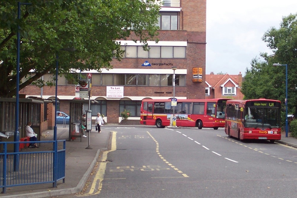
[(177, 30), (178, 17), (177, 12), (160, 12), (158, 23), (156, 24), (160, 30)]

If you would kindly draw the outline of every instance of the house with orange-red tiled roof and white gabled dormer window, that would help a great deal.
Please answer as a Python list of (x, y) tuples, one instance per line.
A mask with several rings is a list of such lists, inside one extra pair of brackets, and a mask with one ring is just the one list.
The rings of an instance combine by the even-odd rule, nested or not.
[(242, 100), (244, 95), (241, 93), (242, 74), (206, 74), (205, 98), (232, 98)]

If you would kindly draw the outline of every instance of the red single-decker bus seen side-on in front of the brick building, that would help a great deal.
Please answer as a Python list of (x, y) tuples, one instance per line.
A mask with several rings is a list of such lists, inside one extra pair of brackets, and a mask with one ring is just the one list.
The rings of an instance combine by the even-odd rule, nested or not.
[[(174, 107), (176, 126), (214, 128), (225, 127), (225, 108), (227, 100), (210, 99), (190, 100), (178, 99)], [(142, 100), (140, 109), (140, 124), (156, 125), (164, 128), (170, 125), (173, 115), (171, 99), (167, 100)]]

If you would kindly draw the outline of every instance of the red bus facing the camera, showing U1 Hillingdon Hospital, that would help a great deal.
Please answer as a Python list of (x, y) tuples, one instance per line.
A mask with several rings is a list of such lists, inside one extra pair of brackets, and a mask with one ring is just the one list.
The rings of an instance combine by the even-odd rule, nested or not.
[(225, 133), (244, 139), (267, 139), (271, 143), (281, 139), (279, 100), (228, 100)]

